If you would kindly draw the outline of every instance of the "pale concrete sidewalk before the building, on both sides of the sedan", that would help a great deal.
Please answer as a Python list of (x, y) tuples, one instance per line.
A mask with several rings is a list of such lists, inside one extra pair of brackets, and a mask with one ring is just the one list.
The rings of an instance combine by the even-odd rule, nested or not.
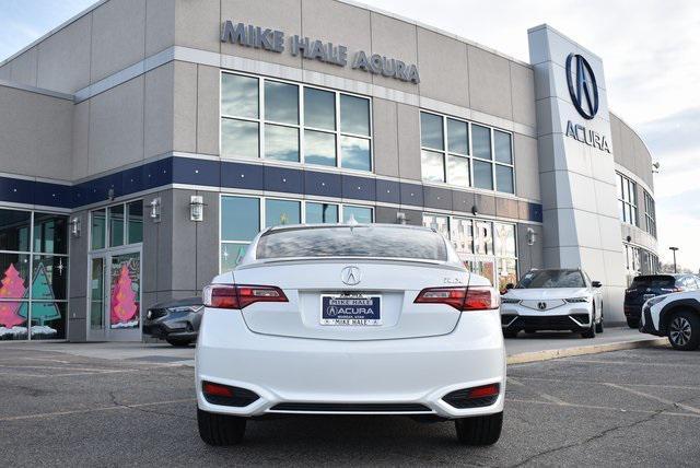
[[(509, 364), (546, 361), (581, 354), (596, 354), (633, 348), (667, 346), (666, 338), (640, 334), (629, 328), (606, 328), (594, 339), (581, 338), (578, 334), (538, 332), (520, 334), (517, 338), (505, 340)], [(162, 363), (172, 365), (195, 365), (195, 348), (175, 348), (166, 343), (141, 342), (42, 342), (8, 341), (1, 347), (27, 348), (34, 351), (54, 351), (84, 358), (128, 361), (139, 363)]]

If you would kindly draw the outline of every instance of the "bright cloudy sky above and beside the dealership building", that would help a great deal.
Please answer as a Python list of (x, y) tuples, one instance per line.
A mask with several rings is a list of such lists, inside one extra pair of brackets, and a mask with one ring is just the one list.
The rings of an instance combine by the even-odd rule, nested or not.
[[(262, 0), (249, 0), (262, 1)], [(92, 0), (0, 0), (0, 60)], [(364, 0), (528, 60), (527, 30), (548, 23), (603, 58), (610, 109), (631, 125), (654, 177), (658, 250), (700, 269), (700, 2), (696, 0)]]

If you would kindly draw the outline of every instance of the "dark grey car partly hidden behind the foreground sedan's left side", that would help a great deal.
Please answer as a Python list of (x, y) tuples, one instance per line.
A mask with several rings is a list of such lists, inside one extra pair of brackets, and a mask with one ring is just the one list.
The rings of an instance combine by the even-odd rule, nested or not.
[(201, 297), (187, 297), (155, 304), (145, 313), (143, 332), (174, 347), (197, 341), (203, 312)]

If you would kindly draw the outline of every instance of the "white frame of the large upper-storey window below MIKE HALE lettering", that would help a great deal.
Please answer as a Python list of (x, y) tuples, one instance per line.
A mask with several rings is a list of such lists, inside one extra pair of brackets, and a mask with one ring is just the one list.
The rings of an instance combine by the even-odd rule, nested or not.
[[(234, 75), (240, 75), (240, 77), (247, 77), (247, 78), (254, 78), (258, 81), (258, 117), (257, 118), (250, 118), (250, 117), (238, 117), (235, 115), (229, 115), (229, 114), (224, 114), (223, 113), (223, 108), (222, 108), (222, 98), (223, 98), (223, 86), (221, 86), (221, 82), (223, 80), (223, 75), (224, 74), (234, 74)], [(266, 82), (276, 82), (276, 83), (284, 83), (284, 84), (292, 84), (294, 86), (296, 86), (298, 89), (298, 102), (299, 102), (299, 124), (293, 125), (293, 124), (287, 124), (287, 122), (278, 122), (278, 121), (273, 121), (273, 120), (268, 120), (266, 119), (265, 116), (265, 83)], [(314, 90), (319, 90), (319, 91), (325, 91), (325, 92), (329, 92), (334, 94), (335, 97), (335, 118), (336, 118), (336, 126), (334, 130), (328, 130), (325, 128), (318, 128), (318, 127), (311, 127), (311, 126), (306, 126), (305, 125), (305, 116), (304, 116), (304, 104), (305, 104), (305, 96), (304, 96), (304, 90), (305, 89), (314, 89)], [(341, 95), (348, 95), (348, 96), (352, 96), (352, 97), (359, 97), (362, 100), (365, 100), (368, 102), (368, 118), (369, 118), (369, 134), (358, 134), (358, 133), (352, 133), (352, 132), (347, 132), (347, 131), (342, 131), (341, 130), (341, 121), (340, 121), (340, 96)], [(306, 83), (302, 83), (302, 82), (298, 82), (298, 81), (292, 81), (292, 80), (284, 80), (284, 79), (279, 79), (279, 78), (272, 78), (272, 77), (266, 77), (262, 74), (254, 74), (254, 73), (245, 73), (245, 72), (240, 72), (240, 71), (233, 71), (233, 70), (220, 70), (219, 71), (219, 154), (221, 155), (222, 160), (233, 160), (233, 161), (265, 161), (265, 162), (270, 162), (273, 164), (280, 164), (280, 165), (302, 165), (302, 166), (310, 166), (313, 168), (318, 168), (318, 167), (326, 167), (326, 168), (332, 168), (332, 169), (337, 169), (337, 171), (343, 171), (343, 172), (350, 172), (350, 173), (357, 173), (357, 174), (373, 174), (375, 171), (375, 161), (374, 161), (374, 113), (373, 113), (373, 98), (372, 96), (368, 96), (368, 95), (363, 95), (363, 94), (359, 94), (359, 93), (352, 93), (352, 92), (347, 92), (347, 91), (340, 91), (340, 90), (334, 90), (331, 87), (324, 87), (324, 86), (318, 86), (318, 85), (314, 85), (314, 84), (306, 84)], [(249, 121), (249, 122), (255, 122), (258, 126), (258, 156), (257, 157), (243, 157), (243, 156), (224, 156), (223, 152), (222, 152), (222, 140), (223, 140), (223, 131), (222, 131), (222, 122), (224, 121), (224, 119), (230, 119), (230, 120), (244, 120), (244, 121)], [(275, 125), (275, 126), (280, 126), (280, 127), (288, 127), (288, 128), (295, 128), (298, 129), (298, 133), (299, 133), (299, 161), (280, 161), (280, 160), (275, 160), (275, 159), (267, 159), (265, 157), (265, 126), (266, 125)], [(316, 132), (320, 132), (320, 133), (326, 133), (326, 134), (332, 134), (335, 137), (336, 140), (336, 164), (335, 165), (324, 165), (324, 164), (315, 164), (315, 163), (307, 163), (305, 161), (305, 144), (304, 144), (304, 132), (305, 130), (310, 130), (310, 131), (316, 131)], [(350, 137), (350, 138), (359, 138), (359, 139), (363, 139), (366, 140), (369, 142), (369, 148), (370, 148), (370, 169), (369, 171), (363, 171), (363, 169), (354, 169), (354, 168), (348, 168), (348, 167), (343, 167), (342, 166), (342, 152), (341, 152), (341, 138), (342, 137)]]

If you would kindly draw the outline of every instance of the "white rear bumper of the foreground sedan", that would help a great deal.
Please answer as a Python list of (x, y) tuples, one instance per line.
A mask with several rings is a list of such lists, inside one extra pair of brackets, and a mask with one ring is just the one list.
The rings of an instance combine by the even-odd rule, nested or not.
[[(197, 343), (197, 402), (210, 412), (428, 414), (464, 418), (503, 410), (505, 349), (498, 311), (463, 313), (444, 336), (325, 340), (252, 332), (237, 311), (207, 309)], [(245, 407), (214, 405), (202, 381), (254, 391)], [(455, 408), (452, 391), (498, 383), (487, 405)]]

